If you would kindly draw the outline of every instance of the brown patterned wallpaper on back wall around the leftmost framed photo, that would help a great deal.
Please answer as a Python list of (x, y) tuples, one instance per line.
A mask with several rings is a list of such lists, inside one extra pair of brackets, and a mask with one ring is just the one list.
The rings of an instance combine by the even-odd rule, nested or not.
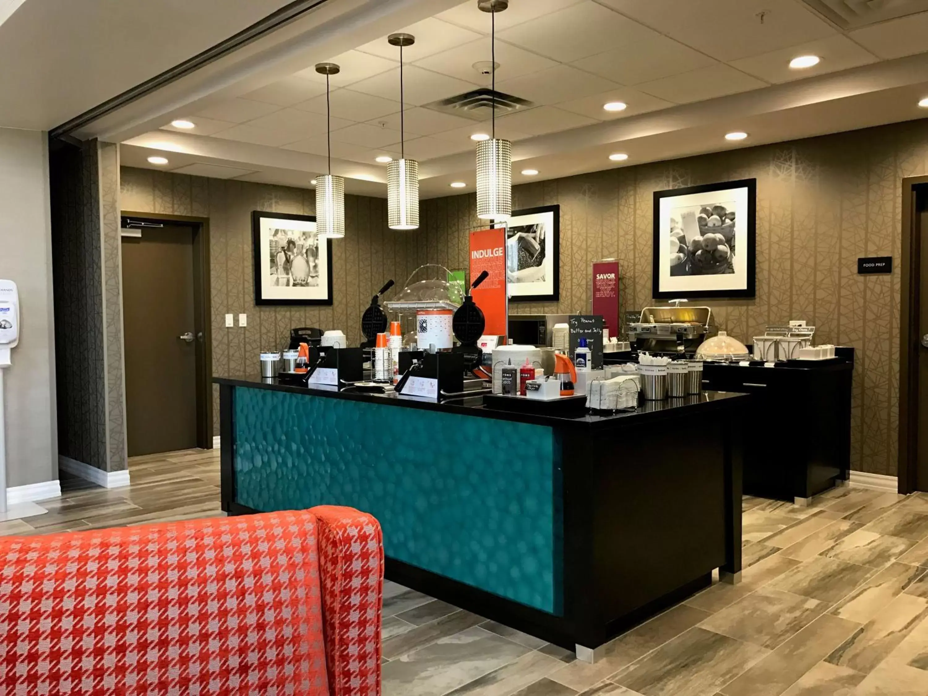
[[(251, 265), (251, 211), (313, 214), (315, 191), (131, 167), (122, 167), (121, 182), (123, 211), (210, 218), (215, 375), (257, 373), (258, 354), (285, 347), (294, 327), (342, 329), (349, 342), (361, 342), (361, 315), (371, 296), (389, 278), (402, 287), (415, 269), (409, 267), (407, 255), (416, 251), (417, 235), (387, 227), (387, 201), (347, 196), (348, 235), (332, 241), (334, 304), (258, 307)], [(241, 312), (248, 314), (248, 326), (226, 329), (226, 313)], [(218, 389), (213, 390), (213, 430), (219, 433)]]

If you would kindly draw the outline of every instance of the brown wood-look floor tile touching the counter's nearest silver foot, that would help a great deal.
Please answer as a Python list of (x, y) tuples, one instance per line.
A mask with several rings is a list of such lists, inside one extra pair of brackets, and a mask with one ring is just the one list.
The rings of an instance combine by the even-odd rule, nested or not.
[(589, 689), (707, 618), (708, 612), (678, 604), (612, 639), (604, 646), (602, 659), (595, 664), (577, 660), (561, 667), (549, 678), (577, 691)]

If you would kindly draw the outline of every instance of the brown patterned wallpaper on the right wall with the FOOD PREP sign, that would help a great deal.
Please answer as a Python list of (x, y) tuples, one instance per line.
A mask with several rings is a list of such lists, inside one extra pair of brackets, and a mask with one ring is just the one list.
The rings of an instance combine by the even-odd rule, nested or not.
[[(806, 319), (817, 342), (853, 346), (852, 466), (895, 475), (899, 272), (858, 276), (857, 257), (892, 255), (898, 267), (901, 179), (919, 174), (928, 174), (928, 121), (515, 187), (516, 209), (561, 204), (561, 302), (513, 311), (588, 311), (590, 264), (605, 257), (620, 261), (623, 311), (647, 306), (652, 192), (756, 177), (757, 296), (707, 304), (743, 342), (767, 324)], [(412, 252), (464, 267), (467, 233), (481, 226), (474, 209), (473, 195), (423, 201), (424, 239)]]

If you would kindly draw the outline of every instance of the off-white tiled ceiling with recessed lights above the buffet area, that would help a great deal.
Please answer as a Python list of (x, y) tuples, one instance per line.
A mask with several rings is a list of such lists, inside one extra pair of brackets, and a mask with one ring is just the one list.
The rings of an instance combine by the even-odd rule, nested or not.
[[(472, 66), (490, 59), (490, 16), (478, 10), (476, 0), (467, 0), (393, 31), (416, 36), (416, 45), (405, 50), (406, 156), (423, 162), (423, 195), (447, 193), (445, 179), (472, 181), (470, 135), (487, 132), (489, 124), (424, 107), (489, 83)], [(545, 178), (575, 173), (577, 152), (588, 152), (585, 171), (602, 169), (600, 145), (608, 150), (630, 142), (626, 135), (611, 135), (610, 124), (634, 126), (639, 140), (660, 136), (670, 143), (677, 142), (668, 137), (672, 131), (698, 137), (708, 125), (700, 121), (697, 127), (690, 117), (716, 113), (723, 102), (737, 110), (717, 111), (716, 130), (729, 119), (732, 129), (748, 130), (764, 113), (790, 109), (794, 116), (824, 101), (846, 109), (842, 100), (903, 84), (915, 85), (913, 94), (919, 93), (928, 72), (902, 57), (928, 50), (926, 34), (928, 12), (844, 31), (802, 0), (510, 0), (509, 9), (496, 16), (496, 88), (531, 100), (534, 108), (498, 118), (496, 134), (515, 142), (517, 160), (537, 163), (533, 153), (544, 152), (545, 167), (535, 168)], [(807, 53), (822, 58), (818, 66), (788, 67), (791, 58)], [(385, 180), (385, 165), (376, 164), (376, 157), (400, 152), (398, 54), (383, 35), (328, 58), (342, 66), (330, 81), (333, 171), (357, 171), (365, 185), (372, 178)], [(757, 104), (767, 94), (783, 98), (762, 109)], [(628, 108), (602, 109), (615, 100)], [(184, 134), (185, 148), (198, 139), (213, 141), (210, 151), (222, 159), (223, 143), (248, 144), (267, 150), (272, 161), (271, 150), (326, 155), (325, 113), (325, 78), (309, 62), (289, 77), (173, 115), (197, 124)], [(914, 105), (870, 109), (857, 114), (857, 127), (922, 115)], [(833, 121), (839, 122), (846, 120)], [(838, 129), (817, 122), (803, 131), (800, 122), (784, 118), (778, 134), (775, 125), (776, 120), (765, 124), (765, 141)], [(172, 130), (163, 125), (160, 135), (129, 142), (157, 148)], [(578, 148), (587, 141), (596, 147)], [(757, 142), (759, 132), (742, 145)], [(628, 163), (658, 159), (658, 151), (674, 156), (665, 145), (655, 145), (653, 153), (638, 151)], [(711, 143), (680, 145), (679, 154), (720, 147), (728, 146), (714, 137)], [(239, 154), (230, 151), (229, 161), (242, 164)], [(266, 176), (270, 169), (254, 171)]]

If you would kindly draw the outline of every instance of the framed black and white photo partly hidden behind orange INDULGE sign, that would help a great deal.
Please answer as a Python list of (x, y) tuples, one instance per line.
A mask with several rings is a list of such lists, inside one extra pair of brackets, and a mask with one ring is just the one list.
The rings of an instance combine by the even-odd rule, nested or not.
[(512, 212), (506, 226), (506, 267), (513, 302), (560, 299), (560, 205)]

